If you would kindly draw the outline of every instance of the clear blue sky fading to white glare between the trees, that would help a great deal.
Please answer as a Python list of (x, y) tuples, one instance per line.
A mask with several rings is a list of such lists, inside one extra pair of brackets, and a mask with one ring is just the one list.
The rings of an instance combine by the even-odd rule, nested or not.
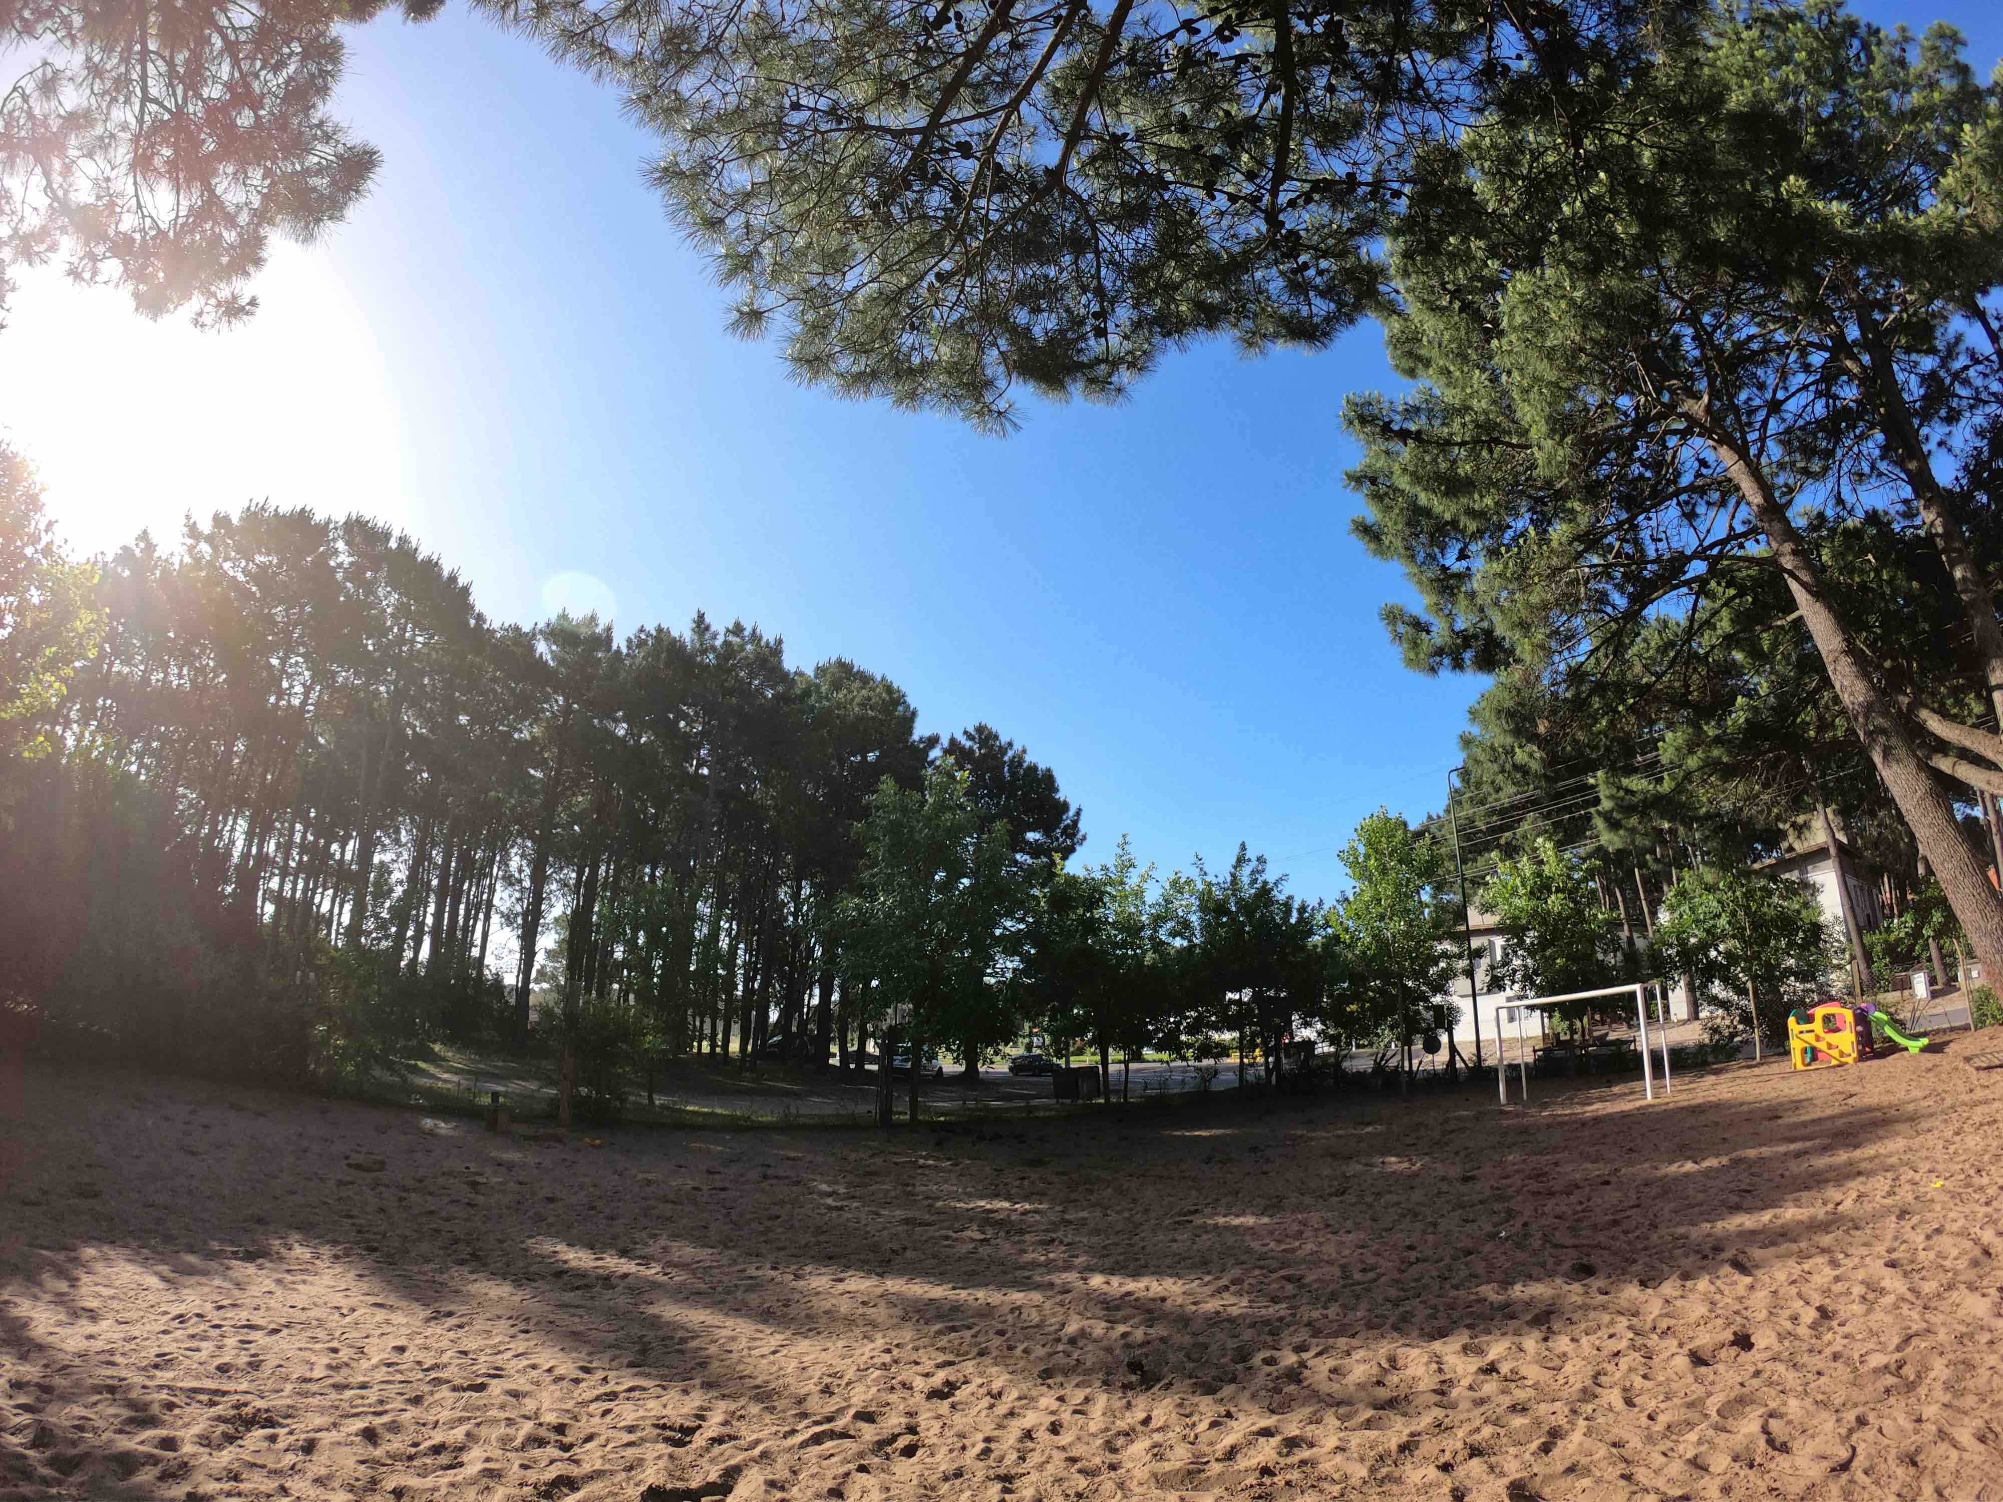
[[(1985, 70), (1993, 0), (1945, 18)], [(84, 551), (248, 499), (359, 509), (457, 565), (489, 615), (697, 609), (893, 677), (923, 729), (985, 719), (1052, 765), (1092, 861), (1226, 861), (1308, 895), (1380, 803), (1442, 803), (1480, 685), (1408, 673), (1402, 577), (1350, 539), (1360, 328), (1322, 354), (1172, 356), (1120, 407), (1024, 403), (983, 439), (795, 387), (641, 182), (599, 86), (461, 12), (351, 34), (341, 112), (385, 152), (351, 222), (282, 248), (250, 326), (142, 324), (24, 278), (0, 433)], [(559, 579), (581, 575), (579, 579)], [(597, 581), (597, 583), (591, 583)]]

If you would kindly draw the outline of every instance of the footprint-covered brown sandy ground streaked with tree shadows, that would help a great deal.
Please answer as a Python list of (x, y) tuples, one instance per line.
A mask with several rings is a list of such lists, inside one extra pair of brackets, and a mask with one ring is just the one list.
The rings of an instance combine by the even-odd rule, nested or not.
[(34, 1079), (0, 1498), (2003, 1498), (1999, 1049), (605, 1146)]

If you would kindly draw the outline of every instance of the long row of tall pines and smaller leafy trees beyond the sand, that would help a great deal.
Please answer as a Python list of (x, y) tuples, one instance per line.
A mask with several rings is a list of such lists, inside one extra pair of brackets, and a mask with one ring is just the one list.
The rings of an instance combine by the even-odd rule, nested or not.
[(339, 1087), (535, 1043), (617, 1109), (675, 1059), (849, 1069), (893, 1029), (967, 1071), (1030, 1029), (1108, 1077), (1236, 1049), (1280, 1087), (1290, 1043), (1438, 1023), (1444, 849), (1390, 813), (1332, 905), (1244, 847), (1080, 863), (1048, 767), (921, 735), (847, 659), (495, 623), (413, 539), (270, 505), (72, 563), (0, 465), (0, 981), (106, 1049)]

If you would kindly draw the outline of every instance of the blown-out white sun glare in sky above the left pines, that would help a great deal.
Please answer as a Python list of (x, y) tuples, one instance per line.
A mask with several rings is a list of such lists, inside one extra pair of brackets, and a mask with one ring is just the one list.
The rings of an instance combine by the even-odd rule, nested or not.
[[(0, 439), (42, 475), (76, 553), (168, 543), (184, 515), (270, 499), (409, 517), (387, 364), (324, 254), (282, 246), (246, 324), (146, 322), (106, 286), (20, 278), (0, 362)], [(282, 493), (274, 483), (282, 477)]]

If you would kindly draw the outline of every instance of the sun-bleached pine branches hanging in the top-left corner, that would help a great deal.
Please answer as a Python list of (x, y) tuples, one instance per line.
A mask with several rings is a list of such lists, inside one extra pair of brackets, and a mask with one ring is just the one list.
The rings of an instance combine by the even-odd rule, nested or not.
[[(403, 0), (411, 20), (443, 0)], [(24, 0), (0, 8), (0, 310), (58, 260), (148, 318), (256, 308), (272, 234), (347, 216), (379, 154), (332, 118), (339, 26), (389, 0)]]

